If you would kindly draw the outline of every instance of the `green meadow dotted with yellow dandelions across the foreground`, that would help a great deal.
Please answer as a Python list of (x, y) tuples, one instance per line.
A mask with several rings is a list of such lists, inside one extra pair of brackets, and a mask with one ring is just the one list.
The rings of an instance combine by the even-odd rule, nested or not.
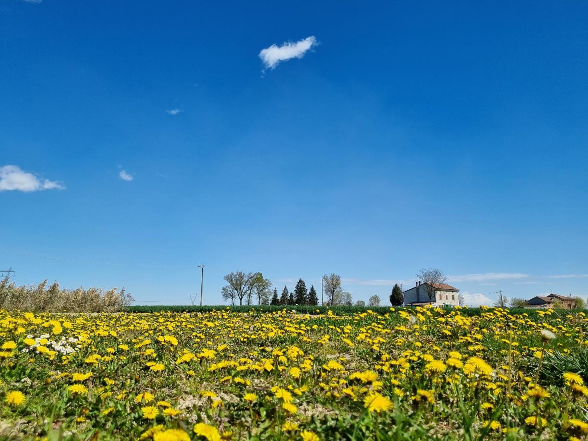
[(0, 310), (2, 439), (588, 439), (584, 312)]

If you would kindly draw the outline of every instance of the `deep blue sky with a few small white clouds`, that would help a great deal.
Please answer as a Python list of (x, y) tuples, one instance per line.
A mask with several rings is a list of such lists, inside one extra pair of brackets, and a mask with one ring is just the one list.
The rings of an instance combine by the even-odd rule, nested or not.
[(278, 290), (336, 272), (355, 300), (423, 267), (473, 304), (585, 296), (587, 21), (586, 2), (6, 0), (0, 249), (128, 265), (0, 267), (138, 303), (186, 303), (200, 273), (132, 265), (206, 265), (209, 304), (236, 269)]

